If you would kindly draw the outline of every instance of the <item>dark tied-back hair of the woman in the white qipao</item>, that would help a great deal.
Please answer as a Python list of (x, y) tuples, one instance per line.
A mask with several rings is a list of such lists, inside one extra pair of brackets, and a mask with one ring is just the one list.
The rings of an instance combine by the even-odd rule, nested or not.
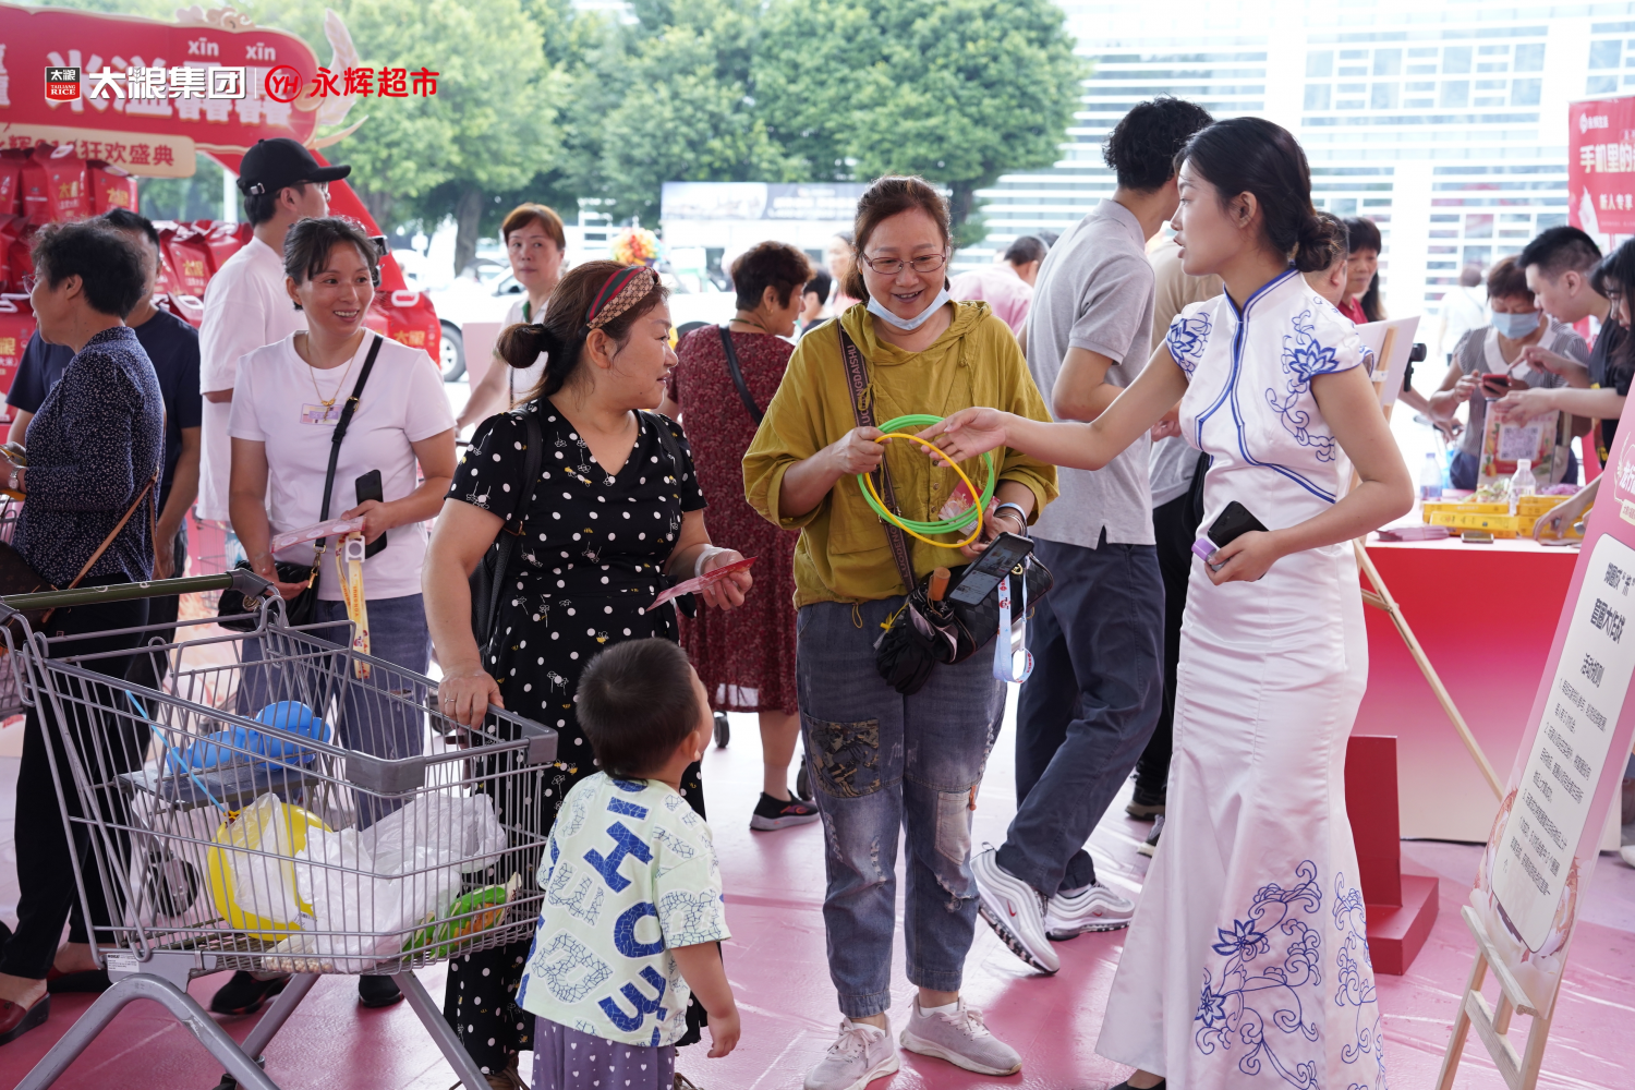
[[(1311, 167), (1300, 142), (1264, 118), (1231, 118), (1200, 129), (1176, 155), (1215, 186), (1221, 203), (1252, 193), (1267, 243), (1301, 273), (1329, 266), (1336, 230), (1311, 204)], [(1344, 245), (1344, 243), (1342, 243)]]

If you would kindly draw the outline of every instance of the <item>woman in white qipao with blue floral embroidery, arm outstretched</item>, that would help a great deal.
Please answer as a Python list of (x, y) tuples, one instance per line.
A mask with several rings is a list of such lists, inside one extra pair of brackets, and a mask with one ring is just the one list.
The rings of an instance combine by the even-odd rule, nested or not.
[[(1174, 227), (1185, 271), (1226, 293), (1184, 307), (1095, 420), (968, 409), (924, 435), (948, 458), (1004, 446), (1095, 469), (1180, 402), (1182, 436), (1213, 456), (1203, 526), (1231, 539), (1192, 567), (1164, 837), (1095, 1048), (1136, 1069), (1118, 1090), (1272, 1070), (1383, 1090), (1344, 789), (1368, 677), (1352, 541), (1404, 515), (1413, 480), (1368, 350), (1301, 278), (1344, 243), (1295, 137), (1261, 118), (1194, 136)], [(1216, 529), (1234, 503), (1267, 529)]]

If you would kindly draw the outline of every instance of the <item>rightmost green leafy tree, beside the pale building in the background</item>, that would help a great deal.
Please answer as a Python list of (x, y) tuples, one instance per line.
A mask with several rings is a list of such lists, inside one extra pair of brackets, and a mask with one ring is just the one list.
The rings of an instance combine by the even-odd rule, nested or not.
[(970, 243), (976, 191), (1058, 159), (1087, 75), (1051, 0), (772, 0), (752, 82), (809, 178), (921, 173)]

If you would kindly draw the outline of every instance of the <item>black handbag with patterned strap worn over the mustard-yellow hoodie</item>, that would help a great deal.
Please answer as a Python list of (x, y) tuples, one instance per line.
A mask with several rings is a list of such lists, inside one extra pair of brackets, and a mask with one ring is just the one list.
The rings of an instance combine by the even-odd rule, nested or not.
[[(875, 427), (871, 402), (863, 397), (868, 389), (868, 374), (863, 368), (863, 353), (847, 335), (839, 322), (840, 356), (845, 361), (847, 386), (852, 392), (852, 415), (857, 427)], [(885, 459), (875, 471), (875, 489), (885, 498), (886, 507), (899, 510), (896, 494), (891, 487), (891, 474), (886, 472)], [(999, 636), (999, 585), (978, 605), (966, 605), (942, 598), (930, 600), (930, 577), (914, 579), (914, 564), (909, 554), (909, 543), (904, 533), (893, 523), (885, 523), (886, 539), (891, 543), (891, 559), (898, 565), (898, 575), (907, 595), (903, 608), (898, 610), (886, 631), (875, 641), (875, 670), (896, 691), (912, 696), (930, 680), (937, 663), (953, 665), (965, 662)], [(968, 565), (952, 567), (948, 587), (956, 587)], [(1019, 601), (1019, 621), (1025, 621), (1027, 608), (1050, 593), (1055, 577), (1041, 561), (1028, 556), (1002, 582), (1009, 583), (1010, 596)]]

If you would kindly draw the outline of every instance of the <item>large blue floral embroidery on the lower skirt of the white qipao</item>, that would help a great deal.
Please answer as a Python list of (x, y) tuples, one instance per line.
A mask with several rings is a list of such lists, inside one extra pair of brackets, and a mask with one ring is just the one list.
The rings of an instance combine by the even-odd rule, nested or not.
[(1244, 918), (1216, 928), (1213, 949), (1226, 963), (1218, 979), (1203, 971), (1192, 1039), (1205, 1056), (1241, 1051), (1238, 1070), (1246, 1075), (1270, 1065), (1288, 1085), (1318, 1090), (1323, 936), (1308, 920), (1323, 907), (1323, 889), (1311, 860), (1295, 868), (1295, 878), (1288, 889), (1267, 882)]

